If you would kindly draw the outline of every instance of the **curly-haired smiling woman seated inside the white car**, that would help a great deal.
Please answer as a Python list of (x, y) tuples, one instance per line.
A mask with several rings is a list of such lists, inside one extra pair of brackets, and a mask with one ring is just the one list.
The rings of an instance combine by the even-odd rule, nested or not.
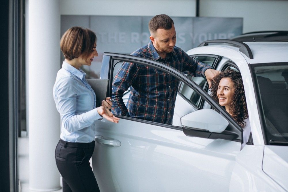
[(226, 111), (243, 128), (242, 149), (248, 142), (251, 127), (241, 74), (232, 69), (222, 71), (212, 81), (211, 96), (225, 106)]

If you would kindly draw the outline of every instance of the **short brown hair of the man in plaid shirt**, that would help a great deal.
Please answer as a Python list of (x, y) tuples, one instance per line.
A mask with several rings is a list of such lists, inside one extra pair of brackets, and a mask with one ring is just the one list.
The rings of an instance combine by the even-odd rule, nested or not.
[(149, 21), (150, 33), (155, 33), (157, 29), (170, 29), (174, 24), (171, 17), (165, 14), (156, 15)]

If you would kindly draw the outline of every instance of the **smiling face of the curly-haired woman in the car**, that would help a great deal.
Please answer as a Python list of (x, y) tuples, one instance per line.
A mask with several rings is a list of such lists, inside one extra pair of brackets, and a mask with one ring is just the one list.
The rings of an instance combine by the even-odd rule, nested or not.
[(219, 104), (221, 106), (225, 106), (226, 111), (229, 109), (229, 105), (232, 103), (233, 94), (234, 83), (232, 80), (229, 77), (222, 78), (218, 85), (217, 97), (219, 99)]

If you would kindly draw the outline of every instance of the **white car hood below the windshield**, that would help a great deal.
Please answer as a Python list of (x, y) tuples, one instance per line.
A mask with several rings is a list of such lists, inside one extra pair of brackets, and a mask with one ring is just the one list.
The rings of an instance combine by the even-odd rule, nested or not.
[(266, 145), (262, 169), (288, 191), (288, 146)]

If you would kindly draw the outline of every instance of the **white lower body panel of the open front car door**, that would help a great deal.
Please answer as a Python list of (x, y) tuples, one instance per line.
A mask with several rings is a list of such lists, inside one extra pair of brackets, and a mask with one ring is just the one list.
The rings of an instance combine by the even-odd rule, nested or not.
[(118, 124), (96, 121), (97, 136), (121, 142), (96, 142), (92, 165), (101, 191), (228, 190), (241, 143), (119, 117)]

